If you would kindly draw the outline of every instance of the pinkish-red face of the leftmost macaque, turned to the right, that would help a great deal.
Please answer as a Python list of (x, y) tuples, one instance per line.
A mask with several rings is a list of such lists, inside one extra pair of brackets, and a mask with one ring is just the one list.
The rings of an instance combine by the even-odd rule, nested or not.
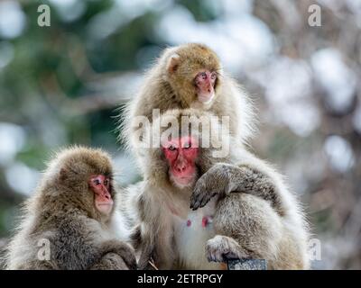
[(113, 199), (110, 191), (110, 179), (106, 175), (92, 175), (89, 186), (94, 192), (94, 202), (97, 211), (102, 214), (109, 214), (113, 208)]

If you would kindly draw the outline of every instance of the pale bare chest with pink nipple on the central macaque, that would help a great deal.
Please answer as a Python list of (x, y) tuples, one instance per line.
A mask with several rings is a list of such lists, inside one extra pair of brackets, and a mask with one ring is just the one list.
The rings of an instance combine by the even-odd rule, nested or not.
[(219, 269), (219, 264), (208, 262), (205, 245), (215, 236), (213, 228), (214, 204), (190, 211), (187, 220), (174, 216), (174, 236), (179, 252), (179, 263), (186, 269)]

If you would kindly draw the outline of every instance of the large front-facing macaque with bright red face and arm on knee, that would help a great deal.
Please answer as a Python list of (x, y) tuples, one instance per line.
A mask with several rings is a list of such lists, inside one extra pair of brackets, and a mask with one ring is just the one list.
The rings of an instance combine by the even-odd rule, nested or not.
[[(201, 115), (211, 117), (172, 110), (153, 125)], [(122, 211), (134, 223), (138, 266), (223, 269), (227, 259), (260, 258), (269, 269), (308, 268), (307, 225), (294, 195), (273, 168), (209, 122), (198, 132), (189, 124), (168, 127), (161, 147), (146, 149), (143, 182), (125, 191)], [(229, 153), (215, 157), (219, 139), (227, 139)]]

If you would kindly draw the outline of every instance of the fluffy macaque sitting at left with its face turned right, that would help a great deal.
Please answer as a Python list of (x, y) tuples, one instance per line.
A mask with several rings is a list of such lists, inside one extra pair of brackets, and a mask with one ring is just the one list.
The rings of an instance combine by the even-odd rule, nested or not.
[(116, 236), (115, 202), (105, 152), (61, 151), (25, 204), (7, 269), (136, 269), (133, 248)]

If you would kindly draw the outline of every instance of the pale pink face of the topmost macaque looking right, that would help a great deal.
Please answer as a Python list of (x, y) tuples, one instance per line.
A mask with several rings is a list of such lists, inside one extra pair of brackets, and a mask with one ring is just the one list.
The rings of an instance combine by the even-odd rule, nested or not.
[(214, 85), (216, 84), (217, 73), (208, 70), (199, 72), (195, 77), (195, 84), (197, 86), (198, 100), (202, 103), (207, 103), (212, 100), (215, 92)]

